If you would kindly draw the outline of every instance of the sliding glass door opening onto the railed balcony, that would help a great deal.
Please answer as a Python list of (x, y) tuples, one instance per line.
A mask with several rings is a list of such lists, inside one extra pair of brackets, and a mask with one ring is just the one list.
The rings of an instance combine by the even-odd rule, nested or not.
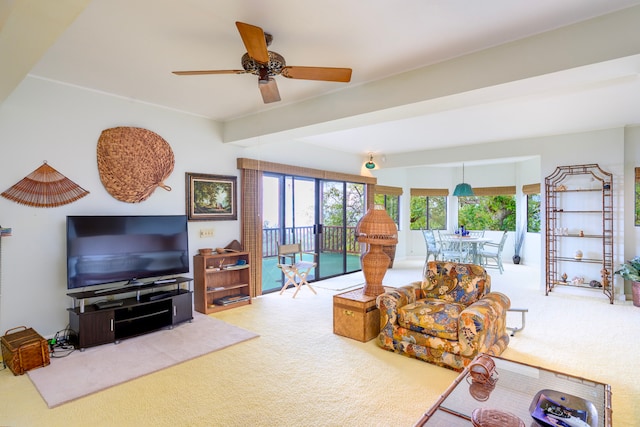
[(309, 281), (360, 269), (355, 225), (364, 215), (364, 185), (291, 175), (263, 176), (262, 292), (279, 290), (278, 244), (301, 243), (317, 254)]

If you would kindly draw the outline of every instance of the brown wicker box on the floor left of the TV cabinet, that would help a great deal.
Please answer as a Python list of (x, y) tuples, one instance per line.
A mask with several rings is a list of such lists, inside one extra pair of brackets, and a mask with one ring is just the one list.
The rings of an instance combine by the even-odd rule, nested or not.
[(2, 360), (14, 375), (47, 366), (49, 364), (49, 346), (32, 328), (19, 326), (9, 329), (2, 338)]

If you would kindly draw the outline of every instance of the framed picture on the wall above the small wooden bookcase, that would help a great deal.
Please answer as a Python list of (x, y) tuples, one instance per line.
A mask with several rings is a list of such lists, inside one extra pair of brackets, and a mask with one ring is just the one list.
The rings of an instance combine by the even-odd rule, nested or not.
[(185, 175), (189, 221), (238, 219), (237, 177), (191, 172)]

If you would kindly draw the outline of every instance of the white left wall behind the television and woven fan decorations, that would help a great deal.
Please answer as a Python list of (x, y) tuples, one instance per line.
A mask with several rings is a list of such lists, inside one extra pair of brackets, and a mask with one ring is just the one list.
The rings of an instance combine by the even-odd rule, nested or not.
[[(146, 128), (169, 143), (175, 167), (165, 184), (172, 191), (156, 189), (144, 202), (126, 203), (105, 190), (97, 169), (96, 146), (102, 130), (116, 126)], [(349, 173), (358, 173), (361, 167), (360, 156), (338, 157), (321, 148), (309, 153), (285, 144), (243, 148), (221, 143), (220, 135), (219, 125), (207, 119), (25, 79), (0, 105), (0, 191), (46, 160), (90, 194), (56, 208), (35, 208), (0, 197), (0, 225), (13, 229), (13, 235), (1, 242), (0, 330), (27, 325), (50, 336), (67, 325), (65, 309), (71, 306), (66, 296), (67, 215), (184, 214), (185, 172), (238, 176), (238, 157)], [(200, 238), (201, 228), (213, 228), (214, 237)], [(241, 240), (239, 221), (189, 223), (192, 255), (198, 248), (225, 246), (234, 239)]]

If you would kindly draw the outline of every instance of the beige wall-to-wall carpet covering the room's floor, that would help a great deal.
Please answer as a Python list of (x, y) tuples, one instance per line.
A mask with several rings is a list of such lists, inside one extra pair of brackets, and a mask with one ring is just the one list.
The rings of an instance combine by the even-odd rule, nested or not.
[[(494, 290), (528, 307), (504, 356), (611, 384), (616, 427), (640, 420), (640, 308), (597, 293), (544, 296), (526, 265), (491, 270)], [(385, 284), (420, 278), (399, 262)], [(341, 287), (339, 285), (338, 287)], [(332, 297), (316, 286), (270, 294), (212, 315), (255, 331), (249, 340), (48, 409), (26, 375), (0, 371), (0, 425), (411, 426), (456, 373), (333, 334)], [(516, 320), (516, 319), (514, 319)], [(44, 368), (46, 369), (46, 368)], [(525, 420), (527, 425), (531, 420)]]

